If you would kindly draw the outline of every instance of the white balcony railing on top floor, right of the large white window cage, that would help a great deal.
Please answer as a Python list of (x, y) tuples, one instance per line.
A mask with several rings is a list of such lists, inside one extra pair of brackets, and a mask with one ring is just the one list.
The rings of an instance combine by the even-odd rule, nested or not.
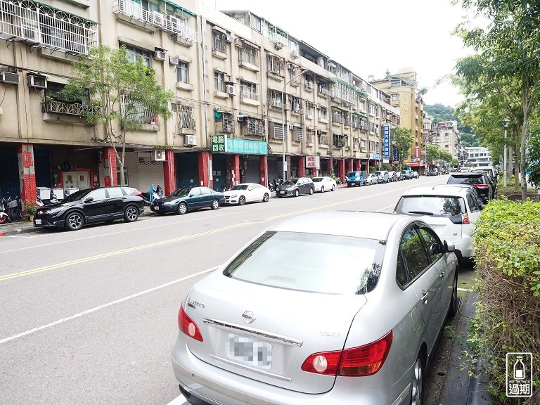
[(169, 34), (184, 38), (191, 42), (199, 41), (199, 34), (186, 27), (186, 19), (176, 18), (174, 15), (158, 13), (156, 11), (145, 10), (141, 3), (133, 0), (114, 0), (113, 13), (123, 14), (134, 20), (153, 25), (158, 30), (169, 32)]

